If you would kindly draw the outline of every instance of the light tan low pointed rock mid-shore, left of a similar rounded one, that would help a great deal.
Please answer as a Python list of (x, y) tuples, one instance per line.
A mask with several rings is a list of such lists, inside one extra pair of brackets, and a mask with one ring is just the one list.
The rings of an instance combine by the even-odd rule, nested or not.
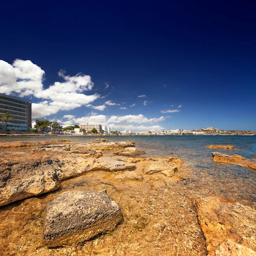
[(110, 172), (127, 171), (136, 169), (134, 163), (115, 160), (114, 157), (101, 157), (97, 159), (92, 166), (89, 167), (90, 171), (106, 170)]

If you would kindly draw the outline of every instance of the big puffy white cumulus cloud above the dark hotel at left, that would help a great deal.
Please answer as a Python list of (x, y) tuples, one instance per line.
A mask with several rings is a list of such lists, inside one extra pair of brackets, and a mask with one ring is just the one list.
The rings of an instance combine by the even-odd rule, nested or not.
[(47, 99), (32, 104), (33, 118), (48, 116), (61, 110), (79, 108), (100, 97), (98, 94), (83, 94), (84, 91), (93, 88), (90, 76), (82, 73), (68, 76), (61, 70), (58, 76), (64, 79), (64, 82), (55, 82), (44, 90), (42, 84), (44, 74), (41, 67), (29, 60), (17, 59), (12, 65), (0, 60), (0, 93)]

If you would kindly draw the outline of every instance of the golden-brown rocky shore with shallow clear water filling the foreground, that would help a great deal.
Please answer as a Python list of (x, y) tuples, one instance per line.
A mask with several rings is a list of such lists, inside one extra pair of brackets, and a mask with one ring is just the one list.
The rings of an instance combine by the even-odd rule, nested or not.
[(135, 146), (0, 143), (0, 255), (256, 255), (253, 207), (191, 190), (180, 158)]

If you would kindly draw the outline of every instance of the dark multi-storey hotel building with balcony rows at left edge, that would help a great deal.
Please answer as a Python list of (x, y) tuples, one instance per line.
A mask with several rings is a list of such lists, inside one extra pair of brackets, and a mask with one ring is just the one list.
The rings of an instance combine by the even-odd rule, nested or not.
[[(0, 93), (0, 115), (9, 112), (14, 119), (7, 123), (7, 130), (10, 131), (29, 131), (32, 127), (31, 102), (19, 98), (10, 97)], [(6, 122), (0, 121), (0, 126), (6, 130)]]

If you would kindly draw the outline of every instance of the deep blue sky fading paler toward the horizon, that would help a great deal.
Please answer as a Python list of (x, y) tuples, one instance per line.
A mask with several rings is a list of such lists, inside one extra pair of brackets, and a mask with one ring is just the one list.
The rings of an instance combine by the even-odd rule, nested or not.
[[(172, 116), (143, 125), (255, 131), (255, 14), (253, 1), (5, 1), (0, 60), (32, 61), (45, 71), (45, 89), (62, 81), (61, 69), (90, 75), (94, 87), (84, 94), (110, 93), (90, 104), (121, 104), (94, 110), (108, 117)], [(174, 109), (180, 111), (160, 112)], [(90, 111), (82, 106), (46, 117)]]

